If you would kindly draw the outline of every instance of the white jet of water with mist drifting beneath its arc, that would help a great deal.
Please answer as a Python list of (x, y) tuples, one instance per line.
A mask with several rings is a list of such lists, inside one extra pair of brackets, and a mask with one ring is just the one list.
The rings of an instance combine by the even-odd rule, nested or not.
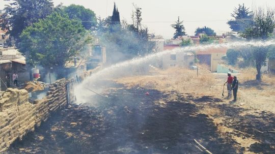
[[(97, 92), (101, 91), (101, 87), (107, 86), (104, 80), (108, 79), (116, 79), (125, 76), (131, 75), (140, 75), (146, 74), (148, 72), (149, 65), (156, 64), (157, 60), (163, 55), (171, 52), (187, 52), (193, 50), (204, 50), (208, 48), (238, 48), (244, 46), (269, 46), (274, 45), (275, 41), (239, 41), (232, 43), (224, 43), (224, 44), (210, 44), (210, 45), (199, 45), (199, 46), (189, 46), (184, 48), (179, 48), (171, 51), (163, 51), (154, 54), (149, 54), (145, 57), (133, 58), (131, 60), (124, 61), (122, 63), (118, 63), (112, 65), (110, 67), (104, 68), (103, 70), (92, 74), (92, 76), (88, 77), (81, 84), (77, 85), (74, 89), (74, 93), (77, 98), (78, 103), (91, 102), (92, 96), (94, 96), (91, 91), (86, 88), (92, 88)], [(96, 86), (95, 86), (96, 85)], [(93, 104), (91, 104), (93, 105)]]

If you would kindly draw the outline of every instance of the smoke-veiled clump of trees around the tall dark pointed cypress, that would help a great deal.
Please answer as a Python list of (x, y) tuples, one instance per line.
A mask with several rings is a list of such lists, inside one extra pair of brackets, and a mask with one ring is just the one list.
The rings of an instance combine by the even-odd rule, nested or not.
[(112, 20), (112, 17), (108, 17), (106, 22), (104, 19), (99, 21), (101, 24), (98, 28), (102, 29), (102, 31), (98, 33), (98, 36), (100, 36), (100, 42), (106, 46), (107, 61), (109, 63), (117, 63), (136, 56), (144, 56), (152, 52), (154, 48), (155, 43), (150, 41), (152, 36), (149, 34), (148, 28), (141, 23), (142, 9), (135, 5), (133, 6), (132, 23), (129, 24), (122, 20), (120, 30), (115, 30), (114, 32), (107, 30), (107, 27), (111, 26), (108, 21)]

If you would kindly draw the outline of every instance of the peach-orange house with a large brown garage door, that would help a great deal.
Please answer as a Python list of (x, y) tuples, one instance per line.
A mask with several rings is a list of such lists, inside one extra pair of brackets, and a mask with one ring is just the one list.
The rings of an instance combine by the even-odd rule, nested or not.
[(226, 55), (227, 48), (207, 48), (204, 50), (197, 50), (196, 55), (200, 60), (200, 64), (206, 64), (210, 67), (211, 72), (217, 71), (217, 65), (222, 63), (222, 57)]

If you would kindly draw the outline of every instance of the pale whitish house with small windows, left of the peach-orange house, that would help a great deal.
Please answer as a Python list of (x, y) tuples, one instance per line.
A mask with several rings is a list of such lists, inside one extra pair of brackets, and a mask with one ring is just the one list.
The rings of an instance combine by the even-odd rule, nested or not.
[(191, 52), (168, 52), (162, 55), (162, 68), (189, 67), (194, 64), (195, 55)]

